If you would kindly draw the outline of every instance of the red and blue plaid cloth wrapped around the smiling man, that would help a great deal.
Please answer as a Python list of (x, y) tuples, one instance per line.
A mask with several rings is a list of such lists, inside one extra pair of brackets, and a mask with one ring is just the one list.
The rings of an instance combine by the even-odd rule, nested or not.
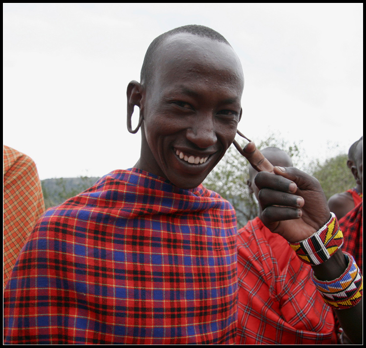
[(4, 342), (232, 344), (236, 310), (229, 202), (117, 170), (37, 223), (4, 292)]

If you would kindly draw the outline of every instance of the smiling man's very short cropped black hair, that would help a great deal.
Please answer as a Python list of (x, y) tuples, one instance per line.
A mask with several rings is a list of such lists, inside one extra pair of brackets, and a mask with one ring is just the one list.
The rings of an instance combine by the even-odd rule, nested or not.
[(150, 43), (146, 51), (140, 74), (140, 83), (142, 85), (147, 86), (151, 80), (151, 77), (153, 75), (152, 69), (154, 68), (154, 60), (156, 58), (157, 49), (160, 43), (162, 43), (167, 37), (179, 33), (188, 33), (201, 36), (214, 41), (227, 43), (230, 46), (229, 42), (220, 33), (204, 25), (196, 25), (196, 24), (183, 25), (178, 28), (169, 30), (159, 35), (157, 38), (155, 38), (153, 42)]

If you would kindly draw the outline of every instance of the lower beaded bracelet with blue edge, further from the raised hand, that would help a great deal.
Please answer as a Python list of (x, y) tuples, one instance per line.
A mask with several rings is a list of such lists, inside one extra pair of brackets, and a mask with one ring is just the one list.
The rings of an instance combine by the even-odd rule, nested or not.
[(348, 265), (343, 274), (333, 281), (320, 281), (311, 270), (311, 279), (326, 304), (335, 309), (347, 309), (358, 304), (363, 295), (363, 278), (352, 255), (343, 251)]

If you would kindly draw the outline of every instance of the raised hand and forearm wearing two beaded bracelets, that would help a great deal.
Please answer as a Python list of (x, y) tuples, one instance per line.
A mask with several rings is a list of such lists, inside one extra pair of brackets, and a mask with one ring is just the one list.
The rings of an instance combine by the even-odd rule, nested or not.
[[(293, 167), (274, 167), (274, 174), (258, 173), (255, 184), (260, 189), (261, 220), (288, 242), (311, 237), (329, 221), (325, 195), (313, 176)], [(317, 279), (331, 281), (343, 274), (347, 262), (338, 249), (327, 261), (312, 268)], [(362, 300), (351, 308), (335, 311), (348, 338), (355, 344), (362, 343)]]

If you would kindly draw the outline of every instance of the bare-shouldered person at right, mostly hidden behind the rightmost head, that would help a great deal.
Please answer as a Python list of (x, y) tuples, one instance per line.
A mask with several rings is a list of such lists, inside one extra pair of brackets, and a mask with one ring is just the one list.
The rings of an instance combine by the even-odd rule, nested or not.
[(362, 138), (363, 137), (354, 142), (348, 151), (347, 167), (355, 177), (356, 186), (345, 192), (335, 194), (328, 199), (329, 209), (336, 215), (338, 220), (343, 218), (348, 212), (362, 202), (362, 184), (357, 177), (357, 168), (355, 166), (356, 148), (357, 144), (362, 141)]

